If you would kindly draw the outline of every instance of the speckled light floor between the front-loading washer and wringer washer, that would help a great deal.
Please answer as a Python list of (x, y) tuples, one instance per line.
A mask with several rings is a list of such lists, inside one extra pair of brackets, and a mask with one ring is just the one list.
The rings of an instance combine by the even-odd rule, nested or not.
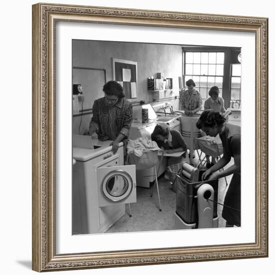
[[(233, 164), (233, 159), (227, 164)], [(231, 175), (227, 176), (229, 184)], [(153, 192), (150, 197), (151, 189), (137, 187), (136, 203), (131, 203), (131, 214), (122, 216), (113, 224), (106, 233), (110, 232), (134, 232), (134, 231), (155, 231), (174, 229), (175, 212), (175, 192), (172, 191), (169, 181), (161, 176), (158, 180), (161, 211), (158, 209), (157, 192)], [(226, 183), (224, 178), (219, 179), (218, 183), (218, 202), (222, 203), (226, 192)], [(225, 220), (221, 217), (222, 205), (217, 205), (218, 227), (225, 226)], [(126, 205), (126, 212), (128, 207)]]

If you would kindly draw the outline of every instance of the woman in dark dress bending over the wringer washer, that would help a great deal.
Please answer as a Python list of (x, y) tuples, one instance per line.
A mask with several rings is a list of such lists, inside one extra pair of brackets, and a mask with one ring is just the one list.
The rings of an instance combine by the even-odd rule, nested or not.
[[(222, 114), (208, 109), (201, 113), (196, 127), (210, 136), (219, 134), (223, 156), (202, 174), (202, 180), (233, 174), (225, 194), (222, 217), (226, 220), (226, 226), (240, 226), (240, 126), (225, 123)], [(234, 164), (221, 171), (231, 157), (234, 158)]]

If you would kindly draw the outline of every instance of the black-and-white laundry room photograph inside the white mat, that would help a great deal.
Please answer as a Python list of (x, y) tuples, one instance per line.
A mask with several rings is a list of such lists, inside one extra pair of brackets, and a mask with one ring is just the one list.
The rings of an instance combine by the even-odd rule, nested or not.
[(72, 39), (72, 234), (241, 226), (241, 48)]

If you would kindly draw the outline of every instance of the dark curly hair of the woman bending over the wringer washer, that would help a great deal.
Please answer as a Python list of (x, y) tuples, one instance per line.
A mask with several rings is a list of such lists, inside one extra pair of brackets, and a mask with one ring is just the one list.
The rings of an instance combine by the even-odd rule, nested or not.
[(225, 118), (219, 111), (213, 109), (205, 110), (199, 116), (196, 127), (201, 129), (202, 127), (214, 127), (219, 126), (225, 122)]

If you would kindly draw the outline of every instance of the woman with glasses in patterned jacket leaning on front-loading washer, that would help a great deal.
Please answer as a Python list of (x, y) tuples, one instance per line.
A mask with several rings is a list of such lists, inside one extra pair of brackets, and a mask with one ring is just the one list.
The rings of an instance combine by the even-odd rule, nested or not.
[(124, 155), (132, 122), (132, 105), (124, 98), (123, 88), (116, 81), (108, 81), (103, 86), (104, 97), (94, 100), (89, 135), (97, 133), (101, 141), (112, 140), (112, 153), (123, 142)]

